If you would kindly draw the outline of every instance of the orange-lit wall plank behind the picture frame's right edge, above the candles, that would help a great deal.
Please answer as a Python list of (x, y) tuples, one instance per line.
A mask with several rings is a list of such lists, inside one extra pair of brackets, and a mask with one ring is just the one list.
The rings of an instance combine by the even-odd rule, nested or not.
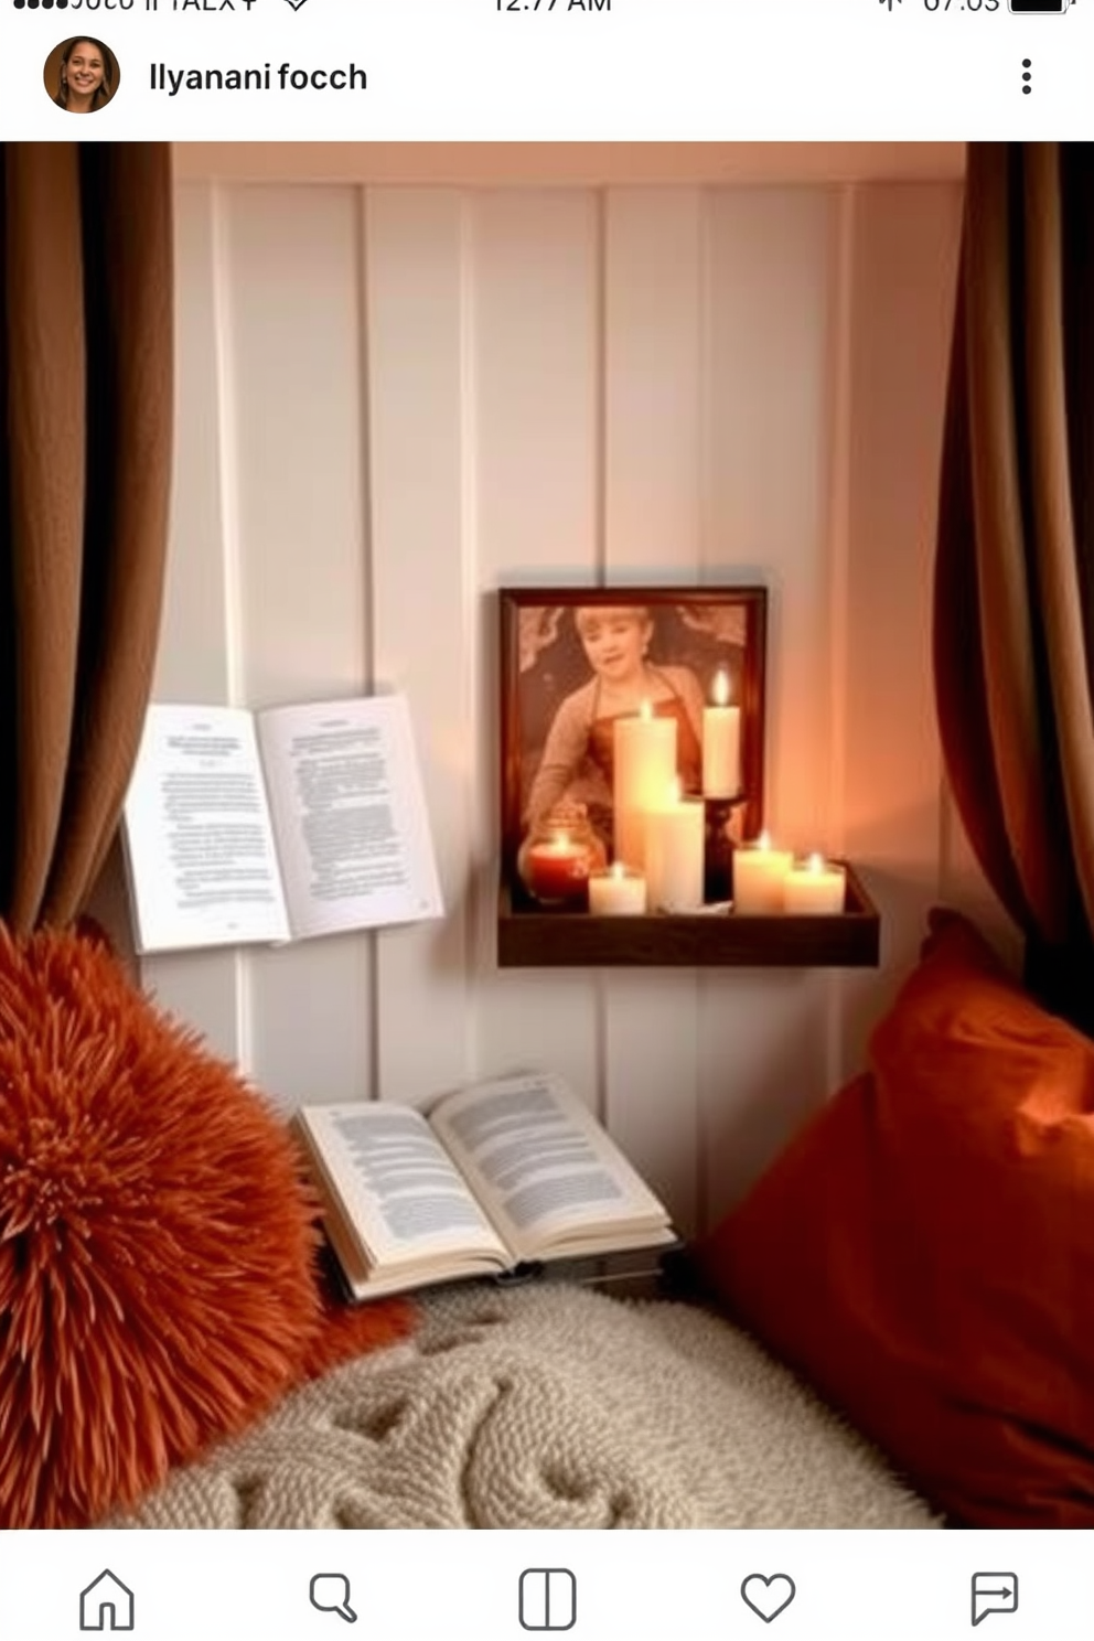
[(713, 197), (707, 338), (712, 579), (769, 587), (766, 820), (827, 847), (828, 313), (835, 197), (761, 189)]

